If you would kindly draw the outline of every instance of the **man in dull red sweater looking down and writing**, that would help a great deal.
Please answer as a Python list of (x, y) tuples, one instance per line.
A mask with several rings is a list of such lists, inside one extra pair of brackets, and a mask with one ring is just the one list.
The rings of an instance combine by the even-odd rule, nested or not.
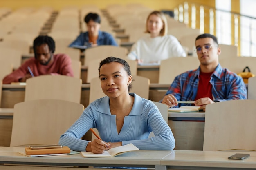
[(33, 49), (35, 57), (27, 60), (20, 68), (4, 77), (3, 84), (26, 82), (27, 79), (39, 75), (74, 76), (70, 57), (65, 54), (54, 54), (55, 43), (51, 37), (38, 36), (34, 40)]

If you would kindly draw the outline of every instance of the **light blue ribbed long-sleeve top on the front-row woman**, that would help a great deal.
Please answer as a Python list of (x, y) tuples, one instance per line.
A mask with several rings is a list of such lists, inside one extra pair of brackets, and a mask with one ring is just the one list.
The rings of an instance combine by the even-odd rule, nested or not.
[[(135, 93), (134, 104), (124, 125), (117, 133), (116, 115), (111, 115), (109, 97), (92, 102), (83, 111), (81, 117), (61, 135), (59, 144), (71, 150), (85, 151), (90, 141), (80, 139), (90, 128), (97, 128), (99, 135), (106, 142), (122, 142), (122, 145), (134, 144), (140, 150), (173, 150), (175, 140), (170, 127), (164, 121), (157, 106), (150, 100)], [(148, 138), (153, 131), (155, 137)]]

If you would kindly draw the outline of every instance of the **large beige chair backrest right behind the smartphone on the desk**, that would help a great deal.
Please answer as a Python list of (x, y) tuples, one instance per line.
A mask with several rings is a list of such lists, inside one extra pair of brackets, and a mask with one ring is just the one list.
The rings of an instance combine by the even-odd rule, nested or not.
[(256, 150), (256, 100), (208, 104), (203, 150)]

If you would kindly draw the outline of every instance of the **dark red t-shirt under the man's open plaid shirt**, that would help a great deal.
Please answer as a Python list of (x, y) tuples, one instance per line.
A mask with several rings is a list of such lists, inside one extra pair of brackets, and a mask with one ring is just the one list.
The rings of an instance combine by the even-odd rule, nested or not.
[(198, 82), (198, 93), (196, 94), (195, 100), (201, 99), (203, 97), (209, 97), (213, 100), (211, 93), (212, 85), (210, 83), (211, 73), (203, 73), (200, 71), (199, 82)]

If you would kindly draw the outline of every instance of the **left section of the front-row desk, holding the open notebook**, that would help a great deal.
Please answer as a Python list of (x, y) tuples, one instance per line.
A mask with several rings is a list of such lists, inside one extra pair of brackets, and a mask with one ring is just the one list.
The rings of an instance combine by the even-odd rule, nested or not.
[[(14, 147), (0, 147), (0, 169), (7, 169), (7, 166), (11, 166), (13, 169), (22, 170), (34, 170), (38, 167), (40, 170), (61, 170), (67, 169), (66, 167), (49, 167), (49, 166), (126, 166), (126, 167), (146, 167), (155, 168), (156, 165), (160, 165), (160, 160), (173, 151), (157, 151), (157, 150), (137, 150), (134, 152), (128, 152), (117, 157), (110, 158), (83, 158), (81, 154), (75, 155), (61, 155), (50, 157), (26, 157), (20, 155), (18, 152), (24, 152), (24, 148)], [(22, 164), (24, 166), (18, 166)], [(26, 166), (27, 165), (27, 166)], [(45, 167), (47, 166), (47, 167)], [(75, 168), (70, 168), (73, 170)], [(78, 168), (76, 168), (77, 170)], [(88, 168), (82, 168), (88, 169)], [(92, 169), (92, 168), (90, 168)]]

